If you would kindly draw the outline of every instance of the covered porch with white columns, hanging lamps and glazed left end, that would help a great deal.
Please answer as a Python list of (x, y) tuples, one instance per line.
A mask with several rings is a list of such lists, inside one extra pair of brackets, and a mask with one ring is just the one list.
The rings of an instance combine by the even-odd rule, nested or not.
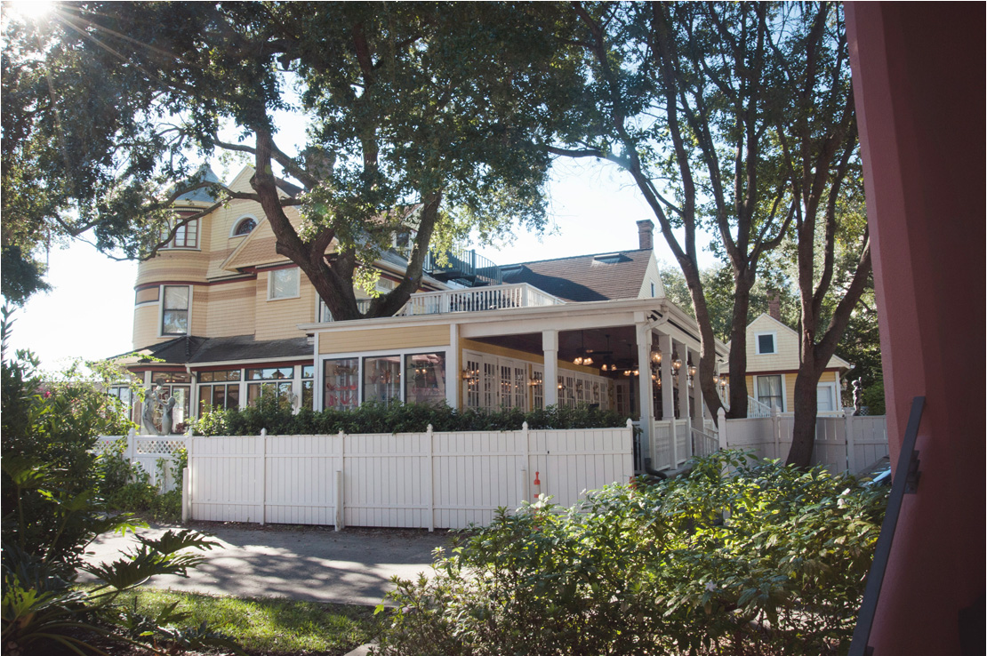
[[(696, 378), (698, 329), (666, 299), (520, 303), (361, 320), (358, 329), (352, 322), (299, 328), (313, 336), (316, 385), (323, 390), (316, 409), (340, 399), (327, 390), (340, 387), (342, 371), (352, 404), (390, 399), (463, 409), (586, 404), (616, 410), (640, 429), (639, 472), (675, 469), (717, 448)], [(381, 397), (373, 381), (385, 361), (392, 390)]]

